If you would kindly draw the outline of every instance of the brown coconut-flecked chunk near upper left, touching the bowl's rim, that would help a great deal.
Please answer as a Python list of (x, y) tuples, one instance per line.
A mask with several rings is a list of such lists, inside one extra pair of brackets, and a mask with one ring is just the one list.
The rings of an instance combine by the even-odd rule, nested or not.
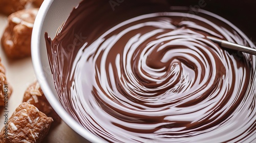
[(8, 26), (1, 42), (9, 58), (31, 55), (31, 35), (37, 12), (38, 9), (20, 10), (8, 17)]

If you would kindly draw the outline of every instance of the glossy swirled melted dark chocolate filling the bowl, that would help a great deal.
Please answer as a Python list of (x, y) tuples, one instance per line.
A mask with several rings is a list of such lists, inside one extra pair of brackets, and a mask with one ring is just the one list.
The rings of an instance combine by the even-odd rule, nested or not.
[(255, 56), (206, 36), (255, 45), (215, 14), (163, 2), (82, 1), (46, 33), (63, 107), (110, 142), (254, 140)]

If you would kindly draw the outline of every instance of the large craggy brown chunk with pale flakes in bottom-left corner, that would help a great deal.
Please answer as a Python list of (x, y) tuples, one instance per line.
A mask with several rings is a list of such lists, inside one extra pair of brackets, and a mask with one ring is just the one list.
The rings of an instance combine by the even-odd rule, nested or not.
[(0, 132), (0, 142), (41, 142), (53, 122), (34, 105), (22, 103)]

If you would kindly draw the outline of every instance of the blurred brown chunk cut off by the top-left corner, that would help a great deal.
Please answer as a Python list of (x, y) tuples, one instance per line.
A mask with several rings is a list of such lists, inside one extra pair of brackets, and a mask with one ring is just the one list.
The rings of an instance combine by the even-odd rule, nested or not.
[(12, 14), (13, 12), (23, 10), (30, 0), (0, 0), (0, 12)]

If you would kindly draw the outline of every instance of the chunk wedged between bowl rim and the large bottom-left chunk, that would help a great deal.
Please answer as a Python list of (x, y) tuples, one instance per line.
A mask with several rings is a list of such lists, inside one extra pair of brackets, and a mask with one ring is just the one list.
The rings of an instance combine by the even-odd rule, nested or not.
[(61, 122), (61, 118), (47, 101), (45, 94), (42, 92), (38, 82), (31, 84), (27, 88), (24, 94), (23, 102), (34, 105), (39, 109), (39, 111), (45, 113), (47, 116), (52, 117), (56, 123)]

